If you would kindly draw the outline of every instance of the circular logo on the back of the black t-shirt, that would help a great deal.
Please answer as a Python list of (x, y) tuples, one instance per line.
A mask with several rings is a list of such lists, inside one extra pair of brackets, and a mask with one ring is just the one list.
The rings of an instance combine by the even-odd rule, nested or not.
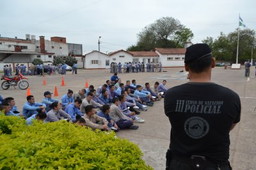
[(190, 138), (200, 139), (209, 132), (209, 124), (202, 117), (191, 117), (184, 124), (186, 133)]

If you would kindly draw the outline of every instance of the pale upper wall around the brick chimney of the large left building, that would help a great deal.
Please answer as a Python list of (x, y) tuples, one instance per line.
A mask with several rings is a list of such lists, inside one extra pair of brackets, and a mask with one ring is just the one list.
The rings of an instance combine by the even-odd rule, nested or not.
[[(68, 56), (68, 45), (65, 43), (57, 43), (54, 41), (45, 40), (45, 50), (47, 53), (54, 53), (58, 56)], [(36, 52), (40, 52), (40, 41), (36, 40)]]

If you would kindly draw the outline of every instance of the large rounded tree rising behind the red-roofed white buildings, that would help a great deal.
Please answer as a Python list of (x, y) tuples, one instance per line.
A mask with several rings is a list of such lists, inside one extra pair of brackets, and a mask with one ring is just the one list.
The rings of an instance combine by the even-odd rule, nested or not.
[(129, 46), (129, 51), (149, 51), (156, 47), (177, 48), (193, 38), (193, 32), (172, 17), (163, 17), (148, 25), (138, 34), (136, 45)]

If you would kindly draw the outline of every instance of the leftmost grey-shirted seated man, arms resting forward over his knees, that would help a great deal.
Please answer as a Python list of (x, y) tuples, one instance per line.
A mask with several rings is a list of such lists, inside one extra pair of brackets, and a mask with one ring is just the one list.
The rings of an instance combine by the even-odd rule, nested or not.
[(72, 118), (68, 113), (61, 110), (61, 103), (58, 101), (54, 101), (50, 108), (52, 110), (47, 112), (47, 118), (45, 118), (45, 122), (58, 122), (61, 119), (67, 118), (68, 122), (72, 122)]

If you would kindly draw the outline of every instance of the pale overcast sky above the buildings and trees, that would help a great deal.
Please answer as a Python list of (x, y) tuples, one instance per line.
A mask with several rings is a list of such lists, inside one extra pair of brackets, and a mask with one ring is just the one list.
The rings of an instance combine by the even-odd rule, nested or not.
[(83, 45), (83, 53), (109, 53), (136, 45), (137, 35), (162, 17), (173, 17), (202, 43), (238, 27), (239, 13), (249, 29), (256, 29), (255, 0), (1, 0), (0, 34), (25, 39), (26, 34), (67, 38)]

